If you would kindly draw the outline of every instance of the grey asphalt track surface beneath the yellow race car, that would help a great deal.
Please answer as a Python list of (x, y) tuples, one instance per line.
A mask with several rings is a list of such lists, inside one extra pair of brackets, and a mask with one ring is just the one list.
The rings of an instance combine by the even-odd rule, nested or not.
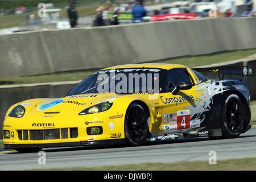
[(148, 143), (140, 147), (69, 147), (45, 148), (44, 151), (45, 165), (38, 164), (38, 153), (0, 152), (0, 170), (208, 161), (209, 151), (217, 152), (217, 160), (256, 157), (256, 127), (236, 139), (200, 137)]

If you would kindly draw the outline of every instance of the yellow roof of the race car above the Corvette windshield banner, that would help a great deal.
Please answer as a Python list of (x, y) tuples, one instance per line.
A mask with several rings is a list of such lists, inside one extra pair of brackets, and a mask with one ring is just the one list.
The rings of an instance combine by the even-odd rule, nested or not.
[(116, 65), (113, 67), (104, 68), (101, 70), (106, 69), (122, 69), (122, 68), (161, 68), (161, 69), (173, 69), (173, 68), (187, 68), (181, 64), (166, 64), (166, 63), (143, 63), (143, 64), (123, 64), (123, 65)]

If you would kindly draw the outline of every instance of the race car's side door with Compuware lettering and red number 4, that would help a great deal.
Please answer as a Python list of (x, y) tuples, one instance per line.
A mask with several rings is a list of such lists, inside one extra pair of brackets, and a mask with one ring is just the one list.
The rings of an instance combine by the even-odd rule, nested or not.
[[(198, 86), (195, 83), (195, 75), (191, 75), (189, 71), (187, 68), (175, 68), (163, 76), (159, 104), (162, 106), (161, 128), (164, 133), (200, 127), (200, 119), (191, 120), (191, 108), (196, 105), (200, 92), (196, 90)], [(174, 93), (177, 85), (188, 85), (188, 88)]]

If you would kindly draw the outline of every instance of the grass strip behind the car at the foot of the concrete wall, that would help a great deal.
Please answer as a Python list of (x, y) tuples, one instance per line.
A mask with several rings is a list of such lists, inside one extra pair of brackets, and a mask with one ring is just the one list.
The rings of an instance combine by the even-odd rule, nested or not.
[[(241, 59), (250, 55), (254, 55), (256, 49), (243, 50), (243, 51), (231, 51), (214, 53), (204, 56), (192, 56), (192, 57), (180, 57), (177, 59), (171, 59), (166, 61), (157, 61), (161, 63), (173, 63), (173, 64), (184, 64), (188, 67), (196, 67), (199, 65), (207, 65), (214, 63), (222, 63), (224, 61)], [(40, 75), (40, 76), (26, 76), (26, 77), (0, 77), (0, 85), (10, 85), (10, 84), (31, 84), (40, 82), (56, 82), (56, 81), (75, 81), (83, 80), (93, 71), (84, 72), (67, 72), (67, 73), (55, 73), (50, 75)]]

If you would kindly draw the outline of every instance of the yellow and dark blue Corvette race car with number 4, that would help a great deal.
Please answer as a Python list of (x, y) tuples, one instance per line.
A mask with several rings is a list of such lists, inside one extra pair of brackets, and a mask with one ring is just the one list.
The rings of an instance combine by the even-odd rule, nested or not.
[[(239, 79), (200, 72), (253, 75), (252, 67), (197, 68), (127, 64), (92, 73), (63, 98), (10, 107), (3, 144), (20, 152), (44, 147), (167, 140), (179, 135), (236, 138), (250, 129), (250, 94)], [(175, 137), (174, 137), (175, 136)]]

